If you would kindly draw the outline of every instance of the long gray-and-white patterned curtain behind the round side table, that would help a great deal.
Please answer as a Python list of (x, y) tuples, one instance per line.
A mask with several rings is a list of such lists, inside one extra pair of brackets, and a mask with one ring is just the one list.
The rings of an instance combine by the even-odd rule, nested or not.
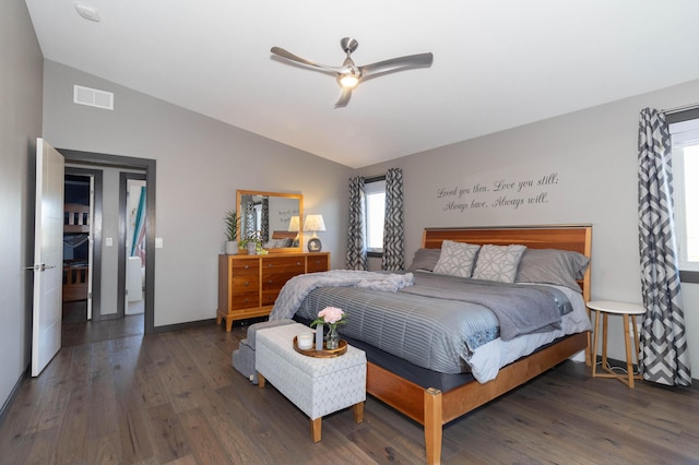
[(643, 379), (689, 385), (691, 372), (679, 287), (673, 210), (671, 142), (665, 115), (645, 108), (638, 134), (638, 214)]

